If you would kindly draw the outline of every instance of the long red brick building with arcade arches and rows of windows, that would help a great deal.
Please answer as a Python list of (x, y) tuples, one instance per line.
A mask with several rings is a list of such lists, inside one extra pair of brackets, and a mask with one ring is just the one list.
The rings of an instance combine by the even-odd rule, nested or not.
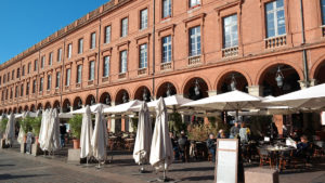
[(276, 96), (325, 82), (324, 25), (324, 0), (112, 0), (0, 66), (0, 113)]

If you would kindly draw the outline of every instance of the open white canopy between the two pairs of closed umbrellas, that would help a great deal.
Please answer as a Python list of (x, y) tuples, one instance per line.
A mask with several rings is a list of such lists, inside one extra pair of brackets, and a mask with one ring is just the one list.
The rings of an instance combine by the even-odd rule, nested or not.
[(130, 101), (125, 104), (119, 104), (109, 108), (104, 109), (104, 114), (125, 114), (125, 113), (132, 113), (132, 112), (139, 112), (139, 108), (134, 108), (134, 106), (141, 105), (143, 102), (134, 100)]

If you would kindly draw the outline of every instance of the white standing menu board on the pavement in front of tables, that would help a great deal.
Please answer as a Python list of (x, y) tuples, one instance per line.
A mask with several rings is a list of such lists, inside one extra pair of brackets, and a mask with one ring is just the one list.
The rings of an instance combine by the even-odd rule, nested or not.
[(214, 183), (237, 183), (238, 140), (218, 139)]

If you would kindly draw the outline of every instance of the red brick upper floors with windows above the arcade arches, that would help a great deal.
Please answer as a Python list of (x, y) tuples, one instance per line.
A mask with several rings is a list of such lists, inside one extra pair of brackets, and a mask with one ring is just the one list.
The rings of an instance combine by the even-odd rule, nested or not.
[(63, 92), (324, 44), (325, 0), (301, 2), (112, 0), (2, 64), (0, 90)]

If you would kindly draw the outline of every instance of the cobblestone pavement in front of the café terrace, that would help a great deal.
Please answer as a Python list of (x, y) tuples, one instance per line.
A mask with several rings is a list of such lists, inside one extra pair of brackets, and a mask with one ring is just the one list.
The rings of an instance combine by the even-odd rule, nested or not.
[[(144, 183), (161, 177), (151, 166), (145, 166), (148, 173), (136, 174), (139, 166), (132, 160), (131, 153), (114, 152), (110, 164), (101, 170), (95, 165), (83, 168), (80, 165), (66, 164), (66, 149), (57, 152), (54, 157), (32, 157), (13, 149), (0, 149), (0, 182), (107, 182), (107, 183)], [(109, 156), (112, 158), (112, 156)], [(324, 159), (323, 159), (324, 161)], [(248, 167), (246, 167), (248, 168)], [(265, 167), (268, 168), (268, 167)], [(212, 183), (214, 167), (208, 161), (182, 164), (176, 161), (167, 175), (181, 183)], [(311, 168), (285, 170), (280, 175), (281, 183), (325, 183), (325, 164)]]

